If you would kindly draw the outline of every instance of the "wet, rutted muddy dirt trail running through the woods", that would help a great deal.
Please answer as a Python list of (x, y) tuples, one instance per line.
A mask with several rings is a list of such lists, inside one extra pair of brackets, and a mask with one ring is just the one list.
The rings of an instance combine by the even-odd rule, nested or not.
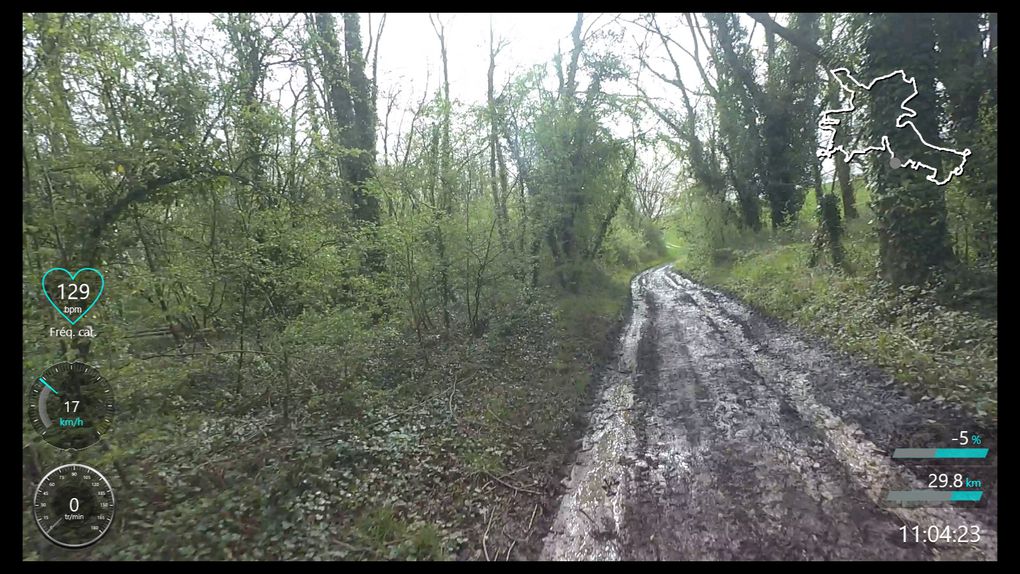
[[(890, 457), (978, 431), (959, 410), (916, 402), (888, 375), (669, 266), (638, 275), (631, 298), (543, 559), (997, 557), (993, 443), (975, 467)], [(884, 500), (960, 471), (983, 479), (984, 503)], [(979, 539), (914, 542), (915, 525), (922, 540), (929, 526), (935, 538), (977, 527)]]

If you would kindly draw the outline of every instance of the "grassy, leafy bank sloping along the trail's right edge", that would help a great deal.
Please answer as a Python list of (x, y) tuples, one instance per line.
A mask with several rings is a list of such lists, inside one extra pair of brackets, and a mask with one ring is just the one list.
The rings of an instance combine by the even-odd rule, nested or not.
[[(681, 245), (677, 268), (793, 322), (887, 370), (919, 398), (959, 402), (998, 423), (998, 321), (950, 308), (933, 292), (883, 289), (866, 187), (855, 182), (860, 216), (846, 225), (852, 273), (808, 266), (816, 226), (814, 194), (790, 229), (732, 234), (724, 247)], [(672, 243), (672, 242), (671, 242)]]

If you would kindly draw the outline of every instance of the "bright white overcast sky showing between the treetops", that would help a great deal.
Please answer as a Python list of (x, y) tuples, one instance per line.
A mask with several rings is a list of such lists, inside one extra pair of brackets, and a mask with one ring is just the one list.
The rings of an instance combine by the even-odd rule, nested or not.
[[(365, 48), (369, 42), (369, 31), (374, 35), (381, 16), (381, 13), (361, 15), (362, 44)], [(215, 17), (212, 14), (185, 13), (173, 14), (173, 17), (180, 22), (189, 22), (193, 30), (200, 32), (203, 36), (208, 38), (221, 37), (210, 27)], [(290, 18), (290, 14), (283, 14), (279, 17), (282, 21), (286, 21)], [(503, 40), (507, 43), (496, 62), (495, 82), (497, 91), (499, 91), (511, 74), (529, 69), (536, 64), (550, 63), (557, 52), (558, 45), (564, 53), (569, 52), (571, 47), (570, 33), (576, 19), (576, 13), (442, 13), (434, 15), (434, 17), (443, 22), (445, 27), (452, 99), (464, 104), (477, 104), (486, 101), (490, 22), (492, 22), (497, 42)], [(602, 27), (622, 28), (625, 31), (625, 39), (616, 49), (616, 53), (631, 66), (634, 74), (638, 72), (638, 62), (633, 56), (636, 53), (639, 42), (645, 37), (645, 33), (626, 22), (636, 17), (638, 14), (584, 14), (585, 31), (590, 25), (595, 29)], [(298, 16), (298, 18), (303, 18), (303, 16)], [(659, 14), (658, 19), (665, 32), (672, 32), (670, 36), (676, 42), (693, 51), (693, 41), (688, 30), (681, 24), (680, 14)], [(777, 19), (784, 22), (784, 14), (777, 15)], [(338, 21), (340, 21), (339, 14)], [(752, 45), (756, 49), (760, 49), (764, 42), (761, 28), (755, 27), (754, 20), (746, 14), (742, 14), (742, 22), (748, 30), (757, 28), (752, 37)], [(296, 19), (294, 25), (303, 25), (303, 22)], [(377, 39), (375, 41), (377, 42)], [(381, 116), (386, 113), (388, 96), (399, 94), (396, 97), (397, 105), (390, 118), (390, 149), (392, 153), (393, 142), (396, 139), (395, 132), (401, 122), (401, 114), (408, 114), (403, 121), (403, 129), (406, 131), (410, 122), (407, 110), (421, 100), (422, 93), (426, 89), (426, 80), (427, 90), (430, 94), (435, 94), (439, 88), (442, 77), (442, 62), (440, 43), (427, 13), (389, 13), (380, 46), (378, 54), (379, 101), (377, 103), (380, 122)], [(696, 92), (701, 90), (701, 75), (693, 58), (678, 50), (674, 50), (673, 55), (679, 63), (680, 73), (687, 88)], [(703, 64), (711, 70), (707, 61), (708, 50), (702, 47), (700, 55), (705, 60)], [(672, 66), (668, 60), (664, 59), (660, 43), (650, 43), (648, 56), (659, 71), (668, 76), (673, 75)], [(552, 83), (555, 82), (555, 72), (552, 67), (548, 71), (547, 83), (552, 87)], [(369, 69), (368, 73), (370, 72)], [(284, 106), (290, 106), (293, 101), (289, 89), (280, 90), (292, 73), (302, 74), (299, 68), (276, 66), (273, 69), (272, 79), (267, 82), (271, 92), (270, 98), (278, 99)], [(642, 72), (640, 76), (634, 75), (634, 77), (639, 77), (639, 84), (650, 96), (662, 98), (661, 101), (673, 109), (679, 107), (679, 95), (676, 88), (666, 85), (648, 71)], [(303, 79), (296, 79), (294, 84), (300, 87), (303, 82)], [(634, 94), (635, 91), (628, 84), (629, 81), (615, 83), (607, 86), (606, 89), (616, 93)], [(610, 127), (618, 137), (627, 137), (632, 129), (628, 121), (613, 123)], [(661, 128), (657, 125), (657, 120), (652, 114), (648, 114), (645, 123), (638, 129), (650, 127)], [(379, 129), (379, 134), (381, 136), (381, 129)]]

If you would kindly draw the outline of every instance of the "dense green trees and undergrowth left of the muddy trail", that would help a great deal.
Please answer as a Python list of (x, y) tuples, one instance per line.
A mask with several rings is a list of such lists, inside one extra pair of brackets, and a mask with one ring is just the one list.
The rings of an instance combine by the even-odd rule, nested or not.
[[(376, 165), (364, 62), (328, 61), (361, 52), (357, 16), (344, 38), (301, 18), (22, 16), (23, 363), (90, 362), (117, 401), (79, 455), (120, 505), (83, 559), (473, 550), (487, 517), (462, 510), (490, 504), (487, 473), (559, 472), (629, 276), (664, 253), (627, 216), (630, 146), (606, 118), (633, 109), (602, 89), (626, 76), (611, 51), (579, 58), (571, 106), (543, 70), (513, 75), (504, 190), (477, 153), (489, 118), (442, 94)], [(288, 60), (325, 89), (280, 103)], [(39, 276), (86, 265), (107, 280), (100, 335), (67, 345), (41, 327), (58, 318)], [(59, 456), (23, 438), (30, 495)], [(34, 528), (27, 513), (24, 557), (56, 557)]]

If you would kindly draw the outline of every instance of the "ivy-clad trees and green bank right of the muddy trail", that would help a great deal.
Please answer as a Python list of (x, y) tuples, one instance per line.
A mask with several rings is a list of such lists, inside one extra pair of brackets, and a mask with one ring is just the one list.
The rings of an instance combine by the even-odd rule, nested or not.
[[(714, 62), (719, 94), (718, 135), (713, 136), (723, 152), (730, 148), (726, 159), (737, 193), (722, 200), (703, 189), (688, 190), (671, 223), (681, 246), (676, 254), (679, 267), (863, 355), (913, 386), (919, 397), (959, 402), (994, 420), (998, 211), (991, 168), (997, 165), (997, 151), (990, 142), (997, 134), (996, 60), (994, 51), (982, 46), (979, 27), (984, 18), (982, 14), (824, 15), (819, 32), (827, 39), (824, 53), (830, 60), (864, 80), (908, 69), (919, 81), (920, 95), (911, 107), (918, 112), (922, 132), (948, 133), (957, 147), (970, 148), (972, 155), (965, 174), (946, 187), (933, 186), (912, 170), (892, 170), (887, 156), (875, 156), (867, 172), (870, 185), (853, 182), (859, 218), (847, 219), (831, 191), (821, 205), (815, 205), (815, 194), (808, 194), (800, 224), (764, 234), (742, 232), (732, 222), (731, 211), (738, 210), (740, 219), (747, 222), (753, 220), (747, 214), (757, 208), (747, 194), (741, 198), (738, 186), (754, 188), (758, 173), (751, 166), (755, 154), (763, 153), (762, 197), (777, 198), (776, 184), (793, 173), (799, 174), (793, 180), (801, 189), (813, 187), (806, 175), (816, 160), (783, 142), (794, 133), (793, 122), (815, 119), (815, 114), (803, 110), (790, 113), (799, 106), (810, 109), (816, 97), (811, 92), (814, 80), (807, 73), (810, 66), (790, 65), (804, 53), (777, 41), (764, 58), (768, 67), (763, 92), (780, 97), (770, 107), (767, 97), (756, 99), (746, 93), (745, 89), (753, 91), (754, 83), (748, 79), (755, 76), (746, 73), (754, 69), (754, 61), (745, 55), (744, 33), (725, 15), (709, 16), (725, 56)], [(802, 15), (796, 15), (788, 29), (802, 24), (813, 25), (810, 16), (802, 21)], [(918, 51), (925, 45), (932, 49)], [(826, 96), (831, 100), (828, 105), (835, 103), (836, 95)], [(873, 101), (868, 101), (863, 117), (848, 118), (840, 133), (844, 145), (857, 136), (860, 145), (873, 145), (879, 135), (889, 134), (905, 97), (896, 90), (865, 96)], [(750, 110), (756, 109), (764, 115), (762, 134), (753, 129)], [(925, 156), (909, 131), (894, 132), (890, 140), (898, 156), (923, 157), (942, 165), (939, 158)], [(803, 136), (798, 140), (804, 141), (808, 139)], [(711, 140), (709, 144), (711, 149)], [(733, 150), (743, 153), (733, 157)], [(772, 201), (772, 207), (773, 226), (779, 227), (784, 205)], [(818, 217), (811, 217), (816, 210)], [(814, 247), (812, 238), (820, 240)], [(824, 243), (842, 246), (846, 254), (836, 249), (835, 265), (809, 266)], [(839, 268), (840, 260), (846, 260), (846, 269)], [(886, 280), (872, 276), (872, 270)]]

